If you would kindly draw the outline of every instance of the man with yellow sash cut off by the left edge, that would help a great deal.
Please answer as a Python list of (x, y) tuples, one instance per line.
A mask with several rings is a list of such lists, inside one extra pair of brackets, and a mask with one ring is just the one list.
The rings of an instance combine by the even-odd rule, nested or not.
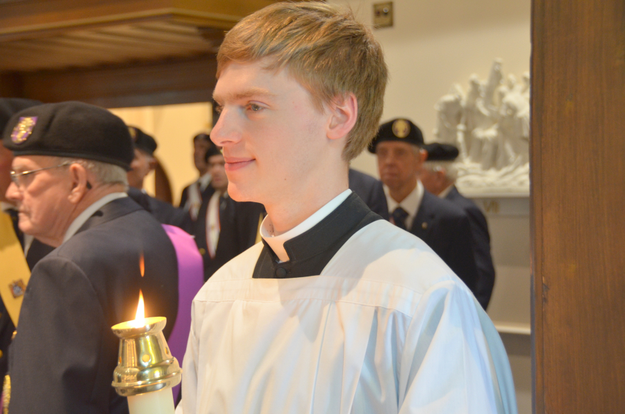
[[(40, 104), (30, 99), (0, 98), (0, 133), (14, 113)], [(5, 195), (11, 182), (12, 160), (11, 151), (0, 145), (0, 378), (8, 370), (8, 347), (31, 269), (53, 250), (17, 226), (17, 208)]]

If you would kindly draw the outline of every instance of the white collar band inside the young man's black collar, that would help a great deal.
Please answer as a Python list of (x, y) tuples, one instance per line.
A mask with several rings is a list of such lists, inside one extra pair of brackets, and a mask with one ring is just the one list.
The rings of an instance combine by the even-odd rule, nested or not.
[(281, 235), (273, 235), (274, 225), (271, 218), (267, 215), (265, 220), (263, 220), (263, 224), (260, 226), (260, 237), (267, 242), (267, 245), (272, 248), (280, 261), (286, 262), (289, 260), (289, 255), (284, 249), (284, 243), (294, 237), (297, 237), (301, 233), (312, 229), (315, 224), (324, 220), (328, 214), (332, 213), (343, 201), (345, 201), (345, 199), (347, 199), (347, 197), (349, 197), (349, 194), (351, 194), (351, 190), (348, 188), (344, 192), (338, 194), (338, 196), (331, 199), (331, 201), (329, 201), (325, 206), (319, 208), (319, 210), (313, 213), (313, 215), (308, 217), (306, 220)]

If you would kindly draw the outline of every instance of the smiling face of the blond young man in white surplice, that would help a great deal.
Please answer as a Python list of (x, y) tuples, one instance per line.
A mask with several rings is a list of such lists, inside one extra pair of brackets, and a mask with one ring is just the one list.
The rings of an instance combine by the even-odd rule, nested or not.
[(267, 204), (310, 188), (310, 172), (326, 156), (328, 116), (285, 69), (267, 58), (229, 63), (213, 98), (222, 113), (210, 138), (223, 147), (228, 194)]

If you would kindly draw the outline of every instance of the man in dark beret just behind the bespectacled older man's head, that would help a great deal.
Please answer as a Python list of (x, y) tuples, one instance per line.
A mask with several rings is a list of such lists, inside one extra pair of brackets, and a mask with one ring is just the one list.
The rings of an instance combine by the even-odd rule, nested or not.
[(156, 168), (156, 163), (158, 163), (154, 158), (154, 151), (158, 147), (156, 140), (136, 126), (128, 126), (128, 131), (135, 147), (135, 158), (127, 174), (128, 196), (148, 210), (161, 224), (170, 224), (190, 232), (191, 217), (187, 213), (181, 208), (149, 196), (143, 189), (145, 177)]

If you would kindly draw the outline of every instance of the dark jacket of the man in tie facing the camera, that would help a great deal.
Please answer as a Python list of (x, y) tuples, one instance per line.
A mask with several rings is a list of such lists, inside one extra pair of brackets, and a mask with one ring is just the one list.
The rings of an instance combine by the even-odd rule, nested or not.
[(473, 256), (473, 238), (469, 218), (462, 209), (424, 190), (410, 233), (426, 242), (475, 292), (478, 273)]

